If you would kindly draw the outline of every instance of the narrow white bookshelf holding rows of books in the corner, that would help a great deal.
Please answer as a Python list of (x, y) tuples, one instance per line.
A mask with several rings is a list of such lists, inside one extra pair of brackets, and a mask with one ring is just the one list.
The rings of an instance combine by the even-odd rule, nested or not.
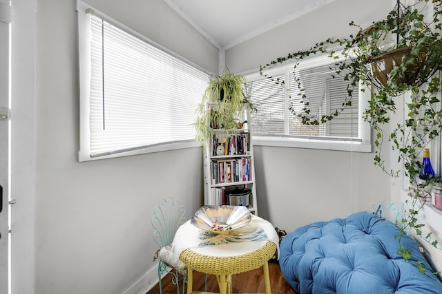
[[(207, 103), (206, 107), (215, 107), (213, 105), (215, 103)], [(238, 113), (238, 121), (250, 122), (250, 111), (243, 109)], [(238, 129), (213, 129), (213, 135), (203, 149), (204, 205), (246, 206), (242, 201), (230, 203), (228, 196), (250, 192), (247, 209), (258, 215), (250, 124), (243, 123)]]

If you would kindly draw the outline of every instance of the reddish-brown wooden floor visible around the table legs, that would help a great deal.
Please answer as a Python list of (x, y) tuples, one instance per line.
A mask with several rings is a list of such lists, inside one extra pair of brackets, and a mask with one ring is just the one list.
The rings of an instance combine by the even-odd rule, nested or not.
[[(278, 263), (269, 262), (270, 286), (272, 294), (296, 294), (293, 289), (287, 284), (282, 276)], [(249, 271), (247, 273), (240, 273), (233, 275), (233, 293), (265, 293), (265, 284), (263, 279), (262, 268)], [(162, 280), (163, 294), (177, 294), (177, 288), (171, 282), (172, 275), (166, 275)], [(182, 277), (181, 277), (182, 279)], [(182, 285), (182, 280), (180, 280)], [(187, 289), (186, 289), (187, 290)], [(193, 290), (204, 291), (204, 274), (193, 273)], [(207, 291), (219, 292), (218, 282), (214, 275), (207, 275)], [(158, 284), (148, 291), (146, 294), (159, 294)], [(182, 289), (180, 287), (180, 293)], [(184, 291), (186, 293), (186, 291)]]

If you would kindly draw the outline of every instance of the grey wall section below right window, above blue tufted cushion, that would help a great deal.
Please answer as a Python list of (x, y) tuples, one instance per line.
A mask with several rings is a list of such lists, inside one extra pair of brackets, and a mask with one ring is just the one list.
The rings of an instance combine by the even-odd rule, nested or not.
[(254, 147), (260, 216), (293, 231), (310, 222), (348, 216), (390, 199), (390, 178), (373, 154)]

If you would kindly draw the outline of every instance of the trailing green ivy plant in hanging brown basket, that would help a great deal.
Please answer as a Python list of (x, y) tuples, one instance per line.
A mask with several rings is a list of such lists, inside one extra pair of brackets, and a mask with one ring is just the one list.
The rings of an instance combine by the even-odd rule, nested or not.
[[(398, 176), (400, 171), (388, 170), (383, 160), (384, 141), (390, 143), (391, 149), (398, 152), (398, 161), (403, 163), (404, 174), (410, 179), (412, 209), (405, 211), (401, 230), (412, 227), (421, 234), (422, 224), (416, 222), (425, 198), (424, 187), (429, 182), (439, 180), (438, 177), (421, 182), (419, 171), (421, 162), (419, 154), (436, 136), (442, 132), (442, 110), (440, 92), (442, 78), (439, 74), (442, 64), (441, 14), (442, 0), (416, 0), (410, 6), (403, 6), (400, 1), (382, 21), (374, 22), (369, 28), (363, 29), (355, 23), (350, 25), (359, 28), (356, 36), (347, 39), (327, 39), (317, 43), (309, 50), (298, 51), (280, 57), (260, 67), (260, 74), (278, 63), (294, 61), (294, 70), (300, 60), (313, 54), (328, 54), (334, 60), (336, 74), (345, 77), (348, 83), (345, 102), (328, 115), (316, 116), (309, 109), (308, 98), (301, 91), (304, 106), (302, 112), (294, 115), (302, 118), (306, 125), (327, 123), (343, 110), (352, 105), (352, 94), (356, 86), (363, 85), (371, 89), (370, 98), (363, 112), (363, 118), (372, 126), (375, 134), (374, 164), (378, 165), (390, 176)], [(431, 15), (425, 8), (432, 6)], [(431, 8), (431, 7), (430, 7)], [(302, 89), (300, 79), (294, 76), (295, 83)], [(392, 132), (385, 133), (385, 125), (392, 121), (396, 112), (397, 99), (402, 94), (410, 95), (406, 102), (405, 120), (392, 126)], [(403, 231), (402, 231), (403, 233)], [(430, 235), (424, 236), (427, 240)], [(436, 241), (432, 241), (436, 245)], [(403, 252), (406, 258), (406, 250)]]

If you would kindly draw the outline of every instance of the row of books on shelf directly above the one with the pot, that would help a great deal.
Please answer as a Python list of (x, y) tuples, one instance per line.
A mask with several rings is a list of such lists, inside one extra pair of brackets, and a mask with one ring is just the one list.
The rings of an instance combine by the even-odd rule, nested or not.
[(251, 158), (211, 160), (212, 185), (251, 180)]

